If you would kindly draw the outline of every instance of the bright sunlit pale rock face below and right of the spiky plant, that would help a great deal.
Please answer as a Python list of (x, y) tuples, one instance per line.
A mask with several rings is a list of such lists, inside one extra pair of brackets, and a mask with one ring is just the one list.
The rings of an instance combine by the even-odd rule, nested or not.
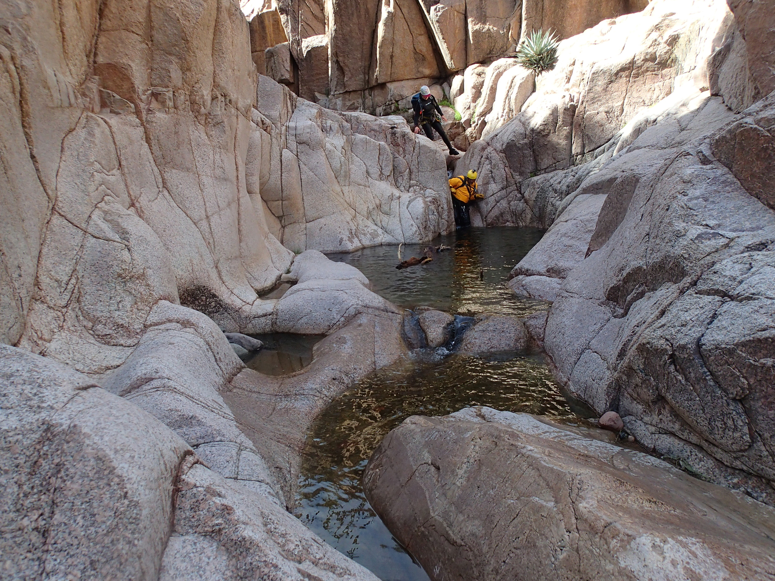
[[(604, 20), (563, 40), (556, 66), (540, 75), (532, 95), (525, 71), (498, 61), (489, 65), (480, 95), (470, 99), (477, 105), (469, 140), (484, 139), (471, 143), (456, 163), (458, 173), (475, 167), (480, 174), (484, 200), (471, 212), (472, 224), (551, 225), (543, 220), (544, 205), (531, 199), (531, 178), (555, 170), (571, 173), (673, 93), (707, 90), (707, 61), (730, 19), (721, 0), (678, 7), (650, 2), (642, 12)], [(498, 67), (505, 70), (498, 74)], [(475, 84), (472, 89), (477, 91)], [(457, 99), (461, 105), (466, 100)], [(473, 112), (472, 105), (464, 124)]]

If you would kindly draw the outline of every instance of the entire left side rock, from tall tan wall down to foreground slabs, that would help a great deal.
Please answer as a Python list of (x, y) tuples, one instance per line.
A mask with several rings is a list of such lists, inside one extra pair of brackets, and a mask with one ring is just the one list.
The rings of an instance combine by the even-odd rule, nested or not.
[[(442, 153), (258, 75), (232, 0), (0, 5), (4, 571), (374, 579), (288, 513), (288, 483), (316, 410), (404, 352), (401, 314), (294, 251), (448, 230)], [(262, 427), (306, 415), (252, 440), (222, 393), (274, 384), (222, 330), (329, 334), (346, 372), (285, 384)]]

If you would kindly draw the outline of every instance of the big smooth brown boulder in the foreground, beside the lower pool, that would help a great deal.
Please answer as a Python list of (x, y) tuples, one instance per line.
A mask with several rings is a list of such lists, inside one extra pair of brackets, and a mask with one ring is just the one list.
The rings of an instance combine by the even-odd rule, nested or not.
[(415, 416), (364, 489), (432, 579), (772, 578), (773, 509), (587, 435), (488, 407)]

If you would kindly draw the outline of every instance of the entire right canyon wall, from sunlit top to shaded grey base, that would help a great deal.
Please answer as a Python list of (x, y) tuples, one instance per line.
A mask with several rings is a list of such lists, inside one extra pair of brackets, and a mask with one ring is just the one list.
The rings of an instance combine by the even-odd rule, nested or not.
[[(758, 9), (655, 0), (563, 41), (521, 108), (495, 98), (471, 122), (482, 139), (456, 169), (480, 173), (472, 223), (549, 227), (509, 284), (553, 301), (563, 386), (647, 449), (772, 504), (773, 22), (752, 26)], [(484, 88), (501, 90), (496, 66), (475, 119)], [(501, 69), (515, 98), (518, 67)]]

